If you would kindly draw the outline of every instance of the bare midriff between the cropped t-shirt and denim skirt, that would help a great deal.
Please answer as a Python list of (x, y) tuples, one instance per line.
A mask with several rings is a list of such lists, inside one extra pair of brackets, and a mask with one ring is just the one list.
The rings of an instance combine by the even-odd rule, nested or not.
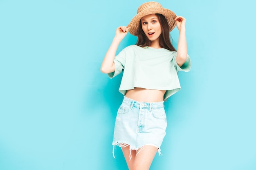
[(132, 90), (128, 90), (125, 96), (139, 102), (162, 102), (165, 92), (165, 90), (135, 87)]

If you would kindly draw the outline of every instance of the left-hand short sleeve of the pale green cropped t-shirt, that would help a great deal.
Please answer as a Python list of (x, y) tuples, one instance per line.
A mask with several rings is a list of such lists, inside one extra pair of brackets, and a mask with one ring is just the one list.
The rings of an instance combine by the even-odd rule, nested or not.
[(126, 49), (123, 49), (114, 59), (115, 71), (108, 73), (108, 77), (113, 78), (124, 71), (126, 61)]

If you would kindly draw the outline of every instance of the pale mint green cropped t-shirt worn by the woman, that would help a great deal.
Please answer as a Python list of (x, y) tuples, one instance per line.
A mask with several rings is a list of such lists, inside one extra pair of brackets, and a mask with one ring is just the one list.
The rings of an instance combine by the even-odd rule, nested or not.
[(190, 71), (189, 55), (180, 67), (175, 58), (177, 52), (167, 49), (154, 49), (130, 45), (114, 59), (115, 71), (108, 73), (110, 78), (124, 71), (119, 92), (123, 95), (135, 87), (166, 90), (164, 100), (181, 89), (178, 71)]

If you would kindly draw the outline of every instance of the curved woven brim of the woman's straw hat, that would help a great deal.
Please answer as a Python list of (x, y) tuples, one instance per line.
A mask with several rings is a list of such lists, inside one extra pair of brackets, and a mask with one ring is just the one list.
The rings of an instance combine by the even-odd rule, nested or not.
[(154, 13), (159, 13), (164, 15), (164, 17), (166, 18), (168, 25), (169, 25), (169, 32), (171, 32), (175, 26), (176, 26), (176, 21), (174, 20), (176, 18), (176, 15), (173, 11), (166, 9), (166, 8), (148, 8), (144, 11), (139, 12), (137, 15), (135, 15), (130, 24), (128, 24), (128, 31), (130, 34), (138, 36), (138, 32), (139, 32), (139, 22), (141, 20), (142, 17), (146, 16), (146, 15), (150, 15), (150, 14), (154, 14)]

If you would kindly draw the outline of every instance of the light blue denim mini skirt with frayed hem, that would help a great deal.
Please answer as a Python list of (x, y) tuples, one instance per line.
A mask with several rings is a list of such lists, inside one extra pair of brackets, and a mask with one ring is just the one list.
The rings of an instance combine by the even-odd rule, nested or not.
[(158, 148), (160, 155), (166, 126), (164, 101), (138, 102), (124, 96), (115, 120), (113, 156), (116, 145), (136, 151), (151, 145)]

